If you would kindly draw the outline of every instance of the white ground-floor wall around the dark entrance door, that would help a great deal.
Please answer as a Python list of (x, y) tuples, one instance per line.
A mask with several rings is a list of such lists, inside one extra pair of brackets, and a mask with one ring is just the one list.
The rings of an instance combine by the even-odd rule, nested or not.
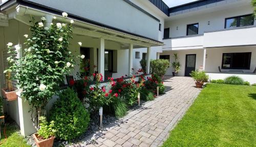
[[(181, 64), (181, 70), (178, 76), (185, 76), (186, 55), (188, 54), (196, 54), (196, 69), (199, 69), (199, 67), (203, 65), (203, 50), (168, 51), (168, 52), (163, 52), (160, 55), (170, 55), (170, 64), (171, 64), (175, 61), (173, 57), (174, 53), (178, 54), (179, 62)], [(174, 69), (172, 67), (169, 67), (166, 75), (172, 75), (173, 71)]]

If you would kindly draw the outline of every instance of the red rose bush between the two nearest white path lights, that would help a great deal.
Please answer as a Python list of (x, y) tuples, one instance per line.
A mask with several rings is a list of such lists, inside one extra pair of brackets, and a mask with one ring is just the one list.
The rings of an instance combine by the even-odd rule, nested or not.
[[(143, 76), (141, 76), (143, 77)], [(121, 99), (125, 100), (127, 104), (130, 106), (137, 103), (138, 100), (138, 93), (140, 92), (141, 88), (144, 86), (144, 78), (139, 82), (135, 81), (135, 76), (129, 80), (123, 80), (123, 76), (121, 78), (117, 78), (117, 81), (111, 80), (111, 86), (114, 93), (119, 94)]]

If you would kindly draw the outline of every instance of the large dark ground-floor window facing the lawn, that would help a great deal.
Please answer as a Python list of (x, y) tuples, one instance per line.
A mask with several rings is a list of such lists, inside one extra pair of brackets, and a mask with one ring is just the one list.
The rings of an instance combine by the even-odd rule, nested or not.
[(251, 52), (223, 53), (222, 69), (250, 69)]

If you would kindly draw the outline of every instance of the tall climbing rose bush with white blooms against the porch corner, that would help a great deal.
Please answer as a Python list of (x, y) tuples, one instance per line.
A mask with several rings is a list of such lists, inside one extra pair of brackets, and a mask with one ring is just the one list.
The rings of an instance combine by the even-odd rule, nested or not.
[[(62, 16), (63, 22), (67, 21), (68, 14), (63, 12)], [(32, 106), (31, 119), (36, 129), (40, 124), (38, 118), (44, 114), (46, 105), (58, 90), (59, 83), (64, 79), (63, 76), (74, 66), (68, 48), (74, 21), (45, 26), (45, 20), (45, 17), (41, 17), (41, 21), (38, 22), (32, 19), (34, 23), (30, 28), (32, 36), (28, 38), (28, 35), (24, 35), (28, 38), (25, 42), (28, 48), (24, 49), (25, 53), (20, 59), (15, 56), (7, 58), (10, 67), (4, 71), (15, 73), (17, 86), (22, 89), (21, 96)], [(8, 44), (9, 53), (16, 55), (20, 48), (12, 51), (10, 43)]]

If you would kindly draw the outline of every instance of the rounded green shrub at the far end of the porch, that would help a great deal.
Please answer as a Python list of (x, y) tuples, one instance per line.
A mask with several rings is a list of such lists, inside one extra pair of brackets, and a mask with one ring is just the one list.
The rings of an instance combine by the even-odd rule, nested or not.
[(152, 60), (150, 61), (151, 74), (162, 77), (164, 74), (166, 74), (169, 65), (169, 61), (165, 59)]

